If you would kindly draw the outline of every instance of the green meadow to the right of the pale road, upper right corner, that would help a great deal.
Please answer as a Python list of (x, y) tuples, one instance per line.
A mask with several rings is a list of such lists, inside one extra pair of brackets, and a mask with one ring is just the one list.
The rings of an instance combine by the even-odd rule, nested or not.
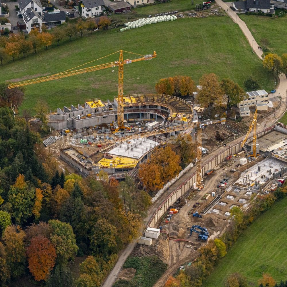
[(271, 18), (258, 15), (240, 15), (240, 18), (246, 23), (256, 42), (261, 45), (261, 39), (266, 38), (269, 41), (268, 49), (272, 53), (282, 55), (287, 53), (287, 16), (282, 18)]

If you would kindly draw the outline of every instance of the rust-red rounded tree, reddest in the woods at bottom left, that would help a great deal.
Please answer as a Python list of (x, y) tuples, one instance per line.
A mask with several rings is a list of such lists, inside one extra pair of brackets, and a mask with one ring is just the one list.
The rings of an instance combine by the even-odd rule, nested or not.
[(36, 281), (47, 280), (56, 262), (56, 250), (44, 236), (32, 238), (27, 248), (28, 268)]

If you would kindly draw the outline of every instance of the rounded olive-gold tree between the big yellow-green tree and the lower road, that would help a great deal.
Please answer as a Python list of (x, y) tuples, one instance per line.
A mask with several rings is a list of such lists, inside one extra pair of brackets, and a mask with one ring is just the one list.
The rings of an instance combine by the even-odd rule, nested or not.
[(116, 252), (117, 228), (110, 224), (106, 219), (99, 219), (90, 235), (91, 249), (95, 253), (102, 253), (108, 256)]

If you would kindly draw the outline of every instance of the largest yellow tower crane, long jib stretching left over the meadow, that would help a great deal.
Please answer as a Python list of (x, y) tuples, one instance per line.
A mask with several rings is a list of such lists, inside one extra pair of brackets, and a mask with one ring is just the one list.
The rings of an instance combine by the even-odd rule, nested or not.
[[(131, 60), (130, 59), (124, 60), (123, 59), (123, 52), (130, 53), (130, 54), (133, 54), (133, 55), (137, 55), (139, 57), (135, 58), (135, 59), (131, 59)], [(140, 54), (127, 52), (127, 51), (123, 51), (123, 50), (117, 51), (115, 53), (119, 53), (120, 54), (118, 61), (114, 61), (114, 62), (102, 64), (102, 65), (97, 65), (97, 66), (92, 66), (92, 67), (88, 67), (88, 68), (74, 70), (74, 69), (76, 69), (78, 67), (81, 67), (83, 65), (88, 64), (88, 63), (85, 63), (83, 65), (77, 66), (75, 68), (69, 69), (67, 71), (64, 71), (62, 73), (58, 73), (58, 74), (55, 74), (55, 75), (41, 77), (41, 78), (36, 78), (36, 79), (31, 79), (31, 80), (27, 80), (27, 81), (23, 81), (23, 82), (18, 82), (18, 83), (11, 83), (11, 84), (8, 85), (8, 88), (12, 89), (12, 88), (17, 88), (17, 87), (22, 87), (22, 86), (27, 86), (27, 85), (32, 85), (32, 84), (52, 81), (52, 80), (56, 80), (56, 79), (61, 79), (61, 78), (65, 78), (65, 77), (69, 77), (69, 76), (73, 76), (73, 75), (79, 75), (79, 74), (84, 74), (84, 73), (88, 73), (88, 72), (98, 71), (98, 70), (102, 70), (102, 69), (119, 67), (118, 127), (117, 127), (116, 131), (118, 131), (119, 129), (127, 129), (127, 127), (125, 127), (125, 125), (124, 125), (124, 107), (123, 107), (123, 104), (124, 104), (123, 103), (124, 67), (123, 66), (125, 64), (131, 64), (131, 63), (138, 62), (138, 61), (151, 60), (151, 59), (156, 57), (156, 51), (154, 51), (153, 54), (148, 54), (148, 55), (140, 55)], [(115, 54), (115, 53), (113, 53), (113, 54)], [(113, 55), (113, 54), (110, 54), (110, 55)], [(102, 58), (108, 57), (110, 55), (104, 56)], [(102, 58), (100, 58), (100, 59), (102, 59)], [(99, 59), (97, 59), (97, 60), (99, 60)], [(96, 61), (96, 60), (94, 60), (94, 61)], [(93, 62), (93, 61), (91, 61), (91, 62)], [(89, 62), (89, 63), (91, 63), (91, 62)]]

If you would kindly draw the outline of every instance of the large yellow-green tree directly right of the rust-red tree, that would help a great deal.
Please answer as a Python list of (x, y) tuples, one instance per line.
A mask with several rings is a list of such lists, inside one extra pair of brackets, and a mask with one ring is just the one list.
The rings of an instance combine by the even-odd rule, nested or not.
[(48, 223), (53, 228), (51, 243), (56, 247), (57, 261), (67, 263), (78, 250), (73, 229), (70, 224), (59, 220), (49, 220)]

